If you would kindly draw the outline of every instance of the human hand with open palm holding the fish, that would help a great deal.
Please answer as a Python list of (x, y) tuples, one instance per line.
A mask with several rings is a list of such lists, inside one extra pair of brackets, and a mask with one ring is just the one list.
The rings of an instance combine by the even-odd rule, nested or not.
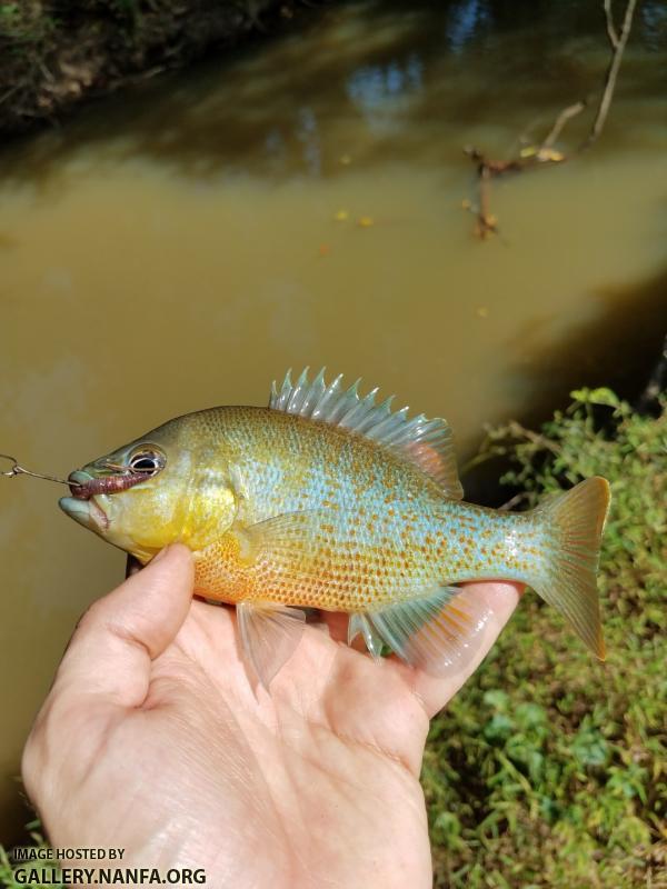
[(23, 755), (56, 847), (123, 866), (203, 868), (222, 889), (420, 889), (432, 882), (419, 769), (431, 716), (510, 617), (517, 585), (470, 583), (494, 615), (475, 659), (436, 679), (307, 627), (270, 696), (248, 679), (233, 609), (192, 600), (163, 550), (80, 621)]

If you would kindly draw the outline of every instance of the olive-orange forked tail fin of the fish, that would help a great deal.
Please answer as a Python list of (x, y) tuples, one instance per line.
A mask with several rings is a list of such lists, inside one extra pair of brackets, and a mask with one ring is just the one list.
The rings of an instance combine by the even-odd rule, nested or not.
[(535, 510), (554, 543), (535, 590), (565, 615), (600, 660), (605, 659), (605, 640), (596, 573), (609, 499), (609, 482), (596, 476)]

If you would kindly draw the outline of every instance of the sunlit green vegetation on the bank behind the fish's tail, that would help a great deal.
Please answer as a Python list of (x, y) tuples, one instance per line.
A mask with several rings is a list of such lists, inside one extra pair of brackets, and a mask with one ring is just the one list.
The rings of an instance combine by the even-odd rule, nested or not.
[(432, 722), (422, 783), (437, 887), (667, 886), (667, 416), (574, 392), (541, 431), (491, 431), (502, 481), (540, 497), (611, 482), (595, 662), (528, 593), (476, 677)]

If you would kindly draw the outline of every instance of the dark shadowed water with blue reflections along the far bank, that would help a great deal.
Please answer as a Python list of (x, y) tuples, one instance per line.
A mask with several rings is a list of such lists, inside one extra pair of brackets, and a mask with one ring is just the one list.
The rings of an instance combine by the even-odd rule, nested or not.
[[(636, 150), (637, 131), (664, 117), (663, 12), (657, 0), (638, 12), (617, 99), (635, 103), (631, 126), (611, 114), (603, 151)], [(607, 61), (593, 3), (336, 6), (313, 11), (305, 33), (277, 34), (210, 59), (187, 80), (167, 76), (91, 107), (6, 156), (4, 176), (44, 187), (63, 161), (103, 146), (108, 160), (148, 158), (197, 178), (331, 177), (341, 172), (341, 153), (352, 153), (357, 168), (442, 162), (452, 133), (458, 154), (480, 126), (485, 147), (506, 156), (519, 136), (548, 130), (564, 106), (595, 99)], [(573, 144), (589, 118), (570, 126)]]

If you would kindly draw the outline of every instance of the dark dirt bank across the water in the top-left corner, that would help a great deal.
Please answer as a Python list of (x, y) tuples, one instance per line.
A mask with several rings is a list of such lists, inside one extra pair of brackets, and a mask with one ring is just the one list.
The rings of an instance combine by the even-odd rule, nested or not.
[(299, 0), (0, 0), (0, 132), (268, 33)]

